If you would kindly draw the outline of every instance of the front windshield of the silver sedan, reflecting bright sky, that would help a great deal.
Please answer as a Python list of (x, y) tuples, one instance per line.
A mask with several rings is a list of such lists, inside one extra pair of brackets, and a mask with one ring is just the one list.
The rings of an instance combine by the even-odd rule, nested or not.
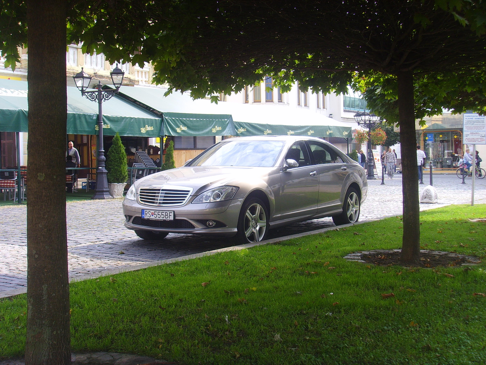
[(285, 142), (238, 141), (221, 142), (212, 146), (189, 166), (253, 166), (271, 167)]

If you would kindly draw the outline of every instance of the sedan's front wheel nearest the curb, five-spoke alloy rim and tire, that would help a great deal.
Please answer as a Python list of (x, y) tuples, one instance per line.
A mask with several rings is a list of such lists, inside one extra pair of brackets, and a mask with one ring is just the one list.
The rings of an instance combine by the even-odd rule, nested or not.
[(263, 201), (258, 198), (246, 199), (238, 219), (236, 237), (240, 243), (264, 240), (269, 229), (268, 219), (268, 209)]

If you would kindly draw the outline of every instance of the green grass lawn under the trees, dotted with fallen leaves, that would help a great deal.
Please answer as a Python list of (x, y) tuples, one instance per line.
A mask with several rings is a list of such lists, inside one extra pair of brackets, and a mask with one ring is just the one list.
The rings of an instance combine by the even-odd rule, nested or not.
[[(421, 246), (484, 257), (486, 223), (468, 221), (483, 217), (486, 205), (422, 212)], [(399, 248), (401, 234), (400, 218), (389, 218), (73, 283), (73, 351), (194, 365), (485, 364), (484, 264), (342, 258)], [(25, 295), (0, 301), (0, 356), (23, 353), (25, 319)]]

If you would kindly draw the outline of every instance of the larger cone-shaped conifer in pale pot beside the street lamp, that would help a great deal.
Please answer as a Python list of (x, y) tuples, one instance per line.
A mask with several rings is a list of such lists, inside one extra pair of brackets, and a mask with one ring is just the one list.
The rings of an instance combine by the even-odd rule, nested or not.
[(113, 144), (108, 150), (106, 157), (108, 190), (113, 198), (121, 198), (123, 197), (123, 189), (128, 179), (128, 167), (126, 164), (125, 147), (121, 143), (118, 132), (113, 137)]

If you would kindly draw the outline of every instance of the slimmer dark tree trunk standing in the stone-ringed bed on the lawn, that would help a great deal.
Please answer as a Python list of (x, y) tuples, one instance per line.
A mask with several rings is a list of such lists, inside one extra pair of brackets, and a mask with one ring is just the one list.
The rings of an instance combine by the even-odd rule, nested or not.
[(414, 76), (412, 71), (407, 71), (397, 73), (397, 78), (401, 166), (403, 171), (403, 238), (400, 262), (413, 264), (418, 261), (420, 254)]

